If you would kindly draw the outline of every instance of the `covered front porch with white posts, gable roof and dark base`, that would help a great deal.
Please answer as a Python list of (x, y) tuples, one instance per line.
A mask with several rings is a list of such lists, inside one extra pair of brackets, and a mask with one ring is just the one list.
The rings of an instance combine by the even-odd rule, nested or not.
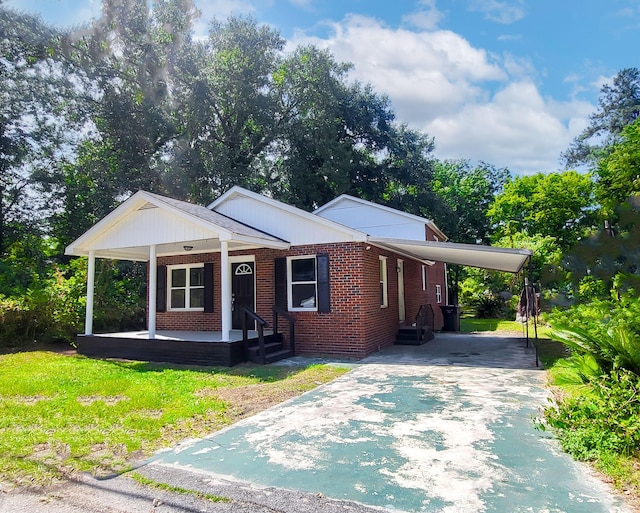
[[(235, 365), (247, 359), (247, 337), (233, 329), (233, 252), (259, 248), (288, 249), (290, 244), (270, 234), (234, 221), (205, 207), (140, 191), (74, 241), (66, 254), (88, 258), (87, 300), (84, 334), (77, 338), (79, 352), (89, 356), (172, 361), (195, 365)], [(158, 260), (165, 257), (193, 258), (217, 254), (217, 269), (204, 266), (197, 287), (191, 289), (193, 304), (186, 304), (189, 287), (167, 291), (166, 276), (158, 273)], [(147, 263), (147, 329), (128, 333), (95, 334), (93, 331), (95, 262), (98, 258)], [(196, 260), (198, 260), (196, 258)], [(187, 267), (187, 270), (189, 267)], [(162, 278), (162, 279), (161, 279)], [(218, 287), (214, 297), (213, 282)], [(199, 289), (199, 290), (197, 290)], [(176, 306), (178, 304), (178, 306)], [(201, 311), (212, 312), (217, 305), (217, 321), (210, 326), (190, 326), (184, 331), (158, 329), (157, 313), (168, 312), (184, 318)], [(248, 327), (257, 326), (250, 319)], [(188, 323), (187, 323), (188, 324)], [(267, 336), (271, 336), (267, 334)]]

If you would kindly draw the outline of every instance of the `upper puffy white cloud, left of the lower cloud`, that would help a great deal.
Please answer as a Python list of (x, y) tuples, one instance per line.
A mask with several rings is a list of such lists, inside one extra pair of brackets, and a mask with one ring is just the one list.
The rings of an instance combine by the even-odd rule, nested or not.
[(485, 51), (450, 31), (390, 29), (361, 16), (350, 16), (333, 29), (331, 39), (299, 36), (293, 43), (311, 42), (338, 60), (353, 62), (353, 78), (391, 96), (403, 121), (455, 110), (482, 96), (477, 83), (506, 79)]

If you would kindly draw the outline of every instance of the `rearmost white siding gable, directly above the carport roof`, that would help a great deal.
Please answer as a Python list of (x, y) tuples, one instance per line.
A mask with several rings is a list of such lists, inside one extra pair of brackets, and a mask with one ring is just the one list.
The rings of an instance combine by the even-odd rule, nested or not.
[(340, 201), (321, 209), (316, 215), (373, 237), (425, 240), (426, 220), (421, 222), (417, 218), (411, 219), (403, 213), (396, 213), (393, 209), (379, 208), (378, 205), (348, 197), (340, 198)]

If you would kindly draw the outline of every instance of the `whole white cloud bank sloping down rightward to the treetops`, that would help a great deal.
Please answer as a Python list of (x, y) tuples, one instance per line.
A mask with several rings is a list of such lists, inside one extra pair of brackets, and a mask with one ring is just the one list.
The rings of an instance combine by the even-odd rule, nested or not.
[(328, 39), (298, 35), (291, 44), (311, 42), (354, 63), (352, 77), (388, 95), (399, 122), (435, 137), (438, 158), (554, 171), (593, 110), (542, 97), (530, 61), (492, 55), (451, 31), (390, 28), (361, 16), (331, 27)]

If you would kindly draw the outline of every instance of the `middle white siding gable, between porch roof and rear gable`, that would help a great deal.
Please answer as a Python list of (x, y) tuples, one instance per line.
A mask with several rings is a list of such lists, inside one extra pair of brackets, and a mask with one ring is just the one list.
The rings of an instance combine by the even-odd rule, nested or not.
[(331, 226), (324, 220), (303, 210), (251, 193), (236, 192), (212, 204), (220, 212), (237, 221), (251, 225), (288, 241), (291, 245), (323, 244), (365, 240), (364, 234), (340, 226)]

